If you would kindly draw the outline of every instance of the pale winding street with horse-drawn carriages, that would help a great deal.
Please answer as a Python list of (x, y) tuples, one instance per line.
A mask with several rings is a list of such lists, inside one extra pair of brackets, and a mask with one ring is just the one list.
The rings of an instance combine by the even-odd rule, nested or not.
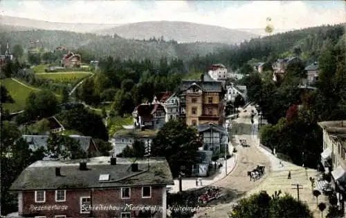
[[(239, 197), (244, 197), (246, 192), (260, 186), (271, 172), (271, 162), (268, 157), (258, 148), (258, 140), (251, 133), (257, 135), (257, 130), (253, 132), (251, 127), (250, 112), (253, 106), (246, 108), (247, 112), (240, 112), (239, 118), (233, 121), (233, 146), (237, 149), (238, 161), (235, 169), (230, 175), (215, 183), (215, 186), (230, 189), (237, 194), (237, 198), (227, 204), (218, 204), (212, 206), (212, 210), (199, 210), (194, 217), (228, 217), (227, 213), (232, 209)], [(250, 111), (250, 112), (249, 112)], [(239, 139), (246, 139), (250, 147), (239, 145)], [(252, 171), (257, 165), (265, 166), (264, 176), (257, 181), (250, 181), (247, 172)], [(207, 213), (207, 215), (206, 215)]]

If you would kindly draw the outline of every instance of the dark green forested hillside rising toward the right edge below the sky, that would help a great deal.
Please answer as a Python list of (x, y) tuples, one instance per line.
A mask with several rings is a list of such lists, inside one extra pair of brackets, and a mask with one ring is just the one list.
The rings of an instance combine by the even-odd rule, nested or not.
[(277, 58), (289, 57), (293, 55), (293, 50), (299, 50), (300, 56), (307, 61), (316, 61), (324, 43), (329, 41), (335, 44), (341, 37), (345, 40), (345, 23), (293, 30), (251, 39), (231, 49), (226, 48), (218, 54), (198, 57), (190, 61), (190, 66), (194, 66), (196, 70), (205, 70), (210, 63), (217, 62), (235, 70), (251, 59), (271, 63)]

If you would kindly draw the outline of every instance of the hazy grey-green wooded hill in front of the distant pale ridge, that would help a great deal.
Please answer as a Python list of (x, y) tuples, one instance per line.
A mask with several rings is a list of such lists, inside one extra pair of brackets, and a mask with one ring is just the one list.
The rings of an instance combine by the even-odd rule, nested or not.
[(101, 58), (105, 56), (120, 57), (120, 59), (145, 59), (152, 60), (167, 57), (188, 60), (197, 54), (205, 56), (210, 52), (217, 52), (229, 46), (223, 43), (176, 43), (161, 39), (132, 40), (115, 36), (98, 36), (96, 34), (83, 34), (60, 30), (26, 30), (0, 32), (1, 54), (6, 48), (6, 41), (10, 39), (11, 45), (20, 44), (24, 50), (28, 49), (30, 39), (38, 39), (39, 46), (45, 50), (53, 51), (58, 46), (69, 50), (87, 50)]

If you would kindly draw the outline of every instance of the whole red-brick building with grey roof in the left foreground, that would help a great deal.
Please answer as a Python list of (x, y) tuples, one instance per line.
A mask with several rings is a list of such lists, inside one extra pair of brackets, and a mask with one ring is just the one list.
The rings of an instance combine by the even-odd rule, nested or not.
[[(22, 217), (166, 217), (167, 185), (174, 185), (164, 158), (98, 157), (37, 161), (10, 190)], [(151, 209), (151, 211), (149, 211)]]

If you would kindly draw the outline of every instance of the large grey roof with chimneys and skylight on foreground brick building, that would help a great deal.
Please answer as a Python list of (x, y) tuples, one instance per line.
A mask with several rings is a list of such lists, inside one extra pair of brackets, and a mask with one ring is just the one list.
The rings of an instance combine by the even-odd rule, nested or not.
[[(124, 186), (174, 185), (170, 166), (165, 158), (136, 161), (138, 172), (131, 171), (133, 160), (117, 158), (116, 165), (110, 157), (87, 160), (88, 170), (80, 170), (81, 160), (37, 161), (28, 166), (12, 184), (10, 190), (56, 190), (76, 188), (116, 188)], [(55, 175), (59, 167), (62, 176)], [(99, 181), (100, 175), (109, 175), (109, 181)]]

